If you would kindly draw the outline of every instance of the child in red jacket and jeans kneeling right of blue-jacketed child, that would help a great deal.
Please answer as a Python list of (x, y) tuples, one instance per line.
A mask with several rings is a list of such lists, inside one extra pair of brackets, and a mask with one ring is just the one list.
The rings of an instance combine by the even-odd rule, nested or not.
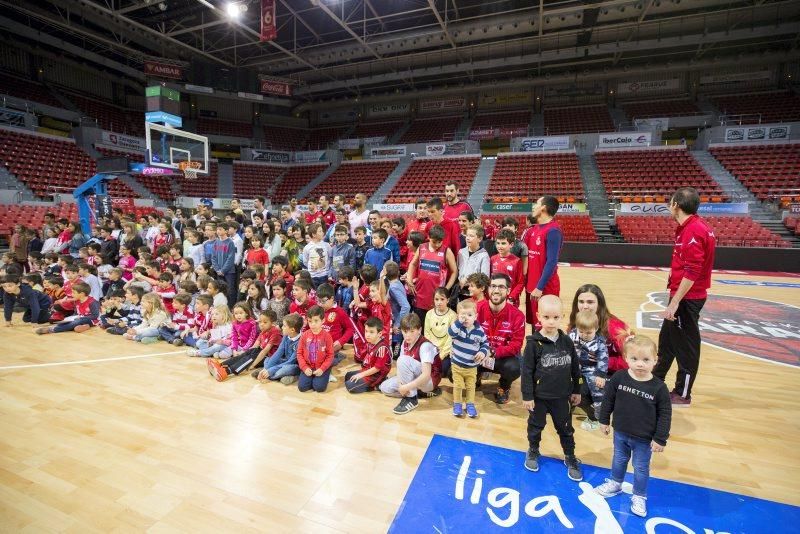
[(297, 345), (297, 365), (301, 371), (297, 389), (300, 391), (313, 388), (322, 393), (328, 389), (333, 365), (333, 338), (322, 328), (324, 315), (319, 306), (312, 306), (306, 314), (308, 330), (300, 336)]

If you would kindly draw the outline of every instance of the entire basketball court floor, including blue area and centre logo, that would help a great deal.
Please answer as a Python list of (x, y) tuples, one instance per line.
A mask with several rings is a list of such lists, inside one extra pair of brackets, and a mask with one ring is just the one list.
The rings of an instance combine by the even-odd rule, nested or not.
[[(657, 336), (645, 327), (660, 308), (653, 294), (664, 291), (663, 270), (560, 273), (566, 306), (579, 285), (596, 283), (611, 311)], [(534, 532), (569, 523), (572, 531), (594, 524), (595, 532), (681, 532), (680, 523), (685, 532), (755, 532), (773, 522), (776, 531), (796, 532), (799, 282), (714, 275), (714, 297), (737, 299), (709, 308), (703, 333), (716, 346), (703, 345), (694, 403), (675, 410), (673, 437), (654, 455), (653, 522), (630, 515), (624, 497), (608, 501), (622, 530), (602, 522), (608, 512), (584, 502), (584, 487), (560, 462), (545, 462), (540, 473), (523, 469), (519, 381), (502, 407), (491, 401), (494, 381), (485, 382), (477, 420), (450, 415), (447, 381), (441, 397), (396, 416), (394, 399), (346, 392), (341, 379), (352, 360), (326, 393), (302, 394), (249, 376), (218, 383), (205, 361), (166, 343), (145, 346), (99, 329), (44, 337), (6, 329), (15, 350), (0, 366), (3, 530)], [(585, 482), (599, 484), (611, 438), (576, 428), (576, 441)], [(559, 457), (552, 429), (542, 453)]]

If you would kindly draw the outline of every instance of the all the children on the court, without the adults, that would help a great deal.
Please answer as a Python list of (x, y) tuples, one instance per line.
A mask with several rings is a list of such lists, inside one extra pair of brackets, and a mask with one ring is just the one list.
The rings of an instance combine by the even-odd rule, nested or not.
[[(420, 204), (431, 207), (418, 203), (418, 215)], [(441, 209), (441, 201), (432, 206)], [(263, 382), (296, 382), (303, 392), (326, 391), (336, 381), (332, 369), (344, 359), (343, 346), (352, 343), (359, 368), (344, 374), (350, 393), (379, 390), (400, 397), (394, 412), (405, 414), (419, 398), (440, 394), (444, 371), (453, 384), (453, 415), (478, 417), (479, 368), (492, 370), (494, 358), (476, 321), (477, 307), (486, 298), (489, 275), (497, 273), (506, 277), (509, 301), (520, 304), (527, 254), (514, 253), (515, 247), (525, 252), (516, 223), (509, 221), (491, 240), (497, 253), (490, 256), (480, 225), (466, 225), (459, 249), (446, 243), (440, 225), (423, 221), (419, 231), (419, 216), (412, 228), (402, 219), (377, 220), (370, 228), (355, 228), (352, 238), (344, 221), (326, 232), (320, 217), (297, 236), (291, 226), (278, 233), (272, 221), (244, 226), (237, 217), (201, 219), (180, 231), (173, 223), (185, 218), (156, 218), (146, 228), (132, 221), (106, 223), (97, 231), (99, 242), (75, 255), (49, 252), (35, 266), (9, 258), (2, 283), (6, 324), (22, 308), (24, 322), (41, 325), (38, 334), (99, 327), (135, 342), (163, 340), (207, 358), (209, 373), (219, 381), (249, 373)], [(280, 237), (277, 255), (265, 249), (270, 235)], [(30, 272), (23, 274), (24, 267)], [(654, 344), (642, 336), (629, 339), (630, 369), (608, 378), (606, 340), (593, 312), (578, 313), (568, 333), (559, 329), (557, 297), (539, 298), (537, 314), (541, 330), (528, 337), (521, 356), (523, 405), (530, 411), (525, 467), (538, 470), (549, 413), (568, 476), (582, 479), (571, 407), (585, 383), (595, 422), (584, 428), (607, 434), (614, 414), (612, 475), (597, 491), (620, 491), (632, 455), (632, 510), (644, 515), (650, 452), (663, 450), (671, 414), (666, 386), (651, 373)], [(446, 359), (449, 372), (442, 366)], [(396, 373), (390, 377), (393, 360)]]

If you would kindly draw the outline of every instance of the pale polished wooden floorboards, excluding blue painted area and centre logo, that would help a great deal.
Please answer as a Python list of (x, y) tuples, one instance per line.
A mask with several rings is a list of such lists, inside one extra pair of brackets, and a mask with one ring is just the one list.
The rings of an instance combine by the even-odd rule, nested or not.
[[(630, 324), (666, 277), (560, 272), (566, 300), (597, 283)], [(800, 289), (713, 289), (800, 306)], [(394, 399), (349, 395), (341, 380), (324, 394), (249, 376), (217, 383), (204, 361), (164, 343), (99, 330), (0, 335), (2, 531), (383, 532), (433, 433), (527, 447), (519, 381), (502, 407), (490, 382), (477, 420), (450, 415), (447, 382), (442, 397), (398, 417)], [(798, 386), (800, 369), (704, 345), (694, 405), (675, 413), (654, 476), (800, 505)], [(576, 439), (585, 463), (609, 465), (610, 438), (578, 429)], [(560, 452), (555, 432), (542, 448)]]

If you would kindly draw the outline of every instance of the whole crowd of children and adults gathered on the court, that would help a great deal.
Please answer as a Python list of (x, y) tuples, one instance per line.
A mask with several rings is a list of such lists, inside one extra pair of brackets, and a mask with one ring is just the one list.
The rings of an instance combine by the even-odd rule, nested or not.
[[(234, 199), (222, 216), (210, 201), (191, 216), (115, 212), (90, 235), (48, 214), (41, 229), (14, 229), (2, 266), (5, 321), (17, 324), (16, 310), (40, 335), (98, 328), (185, 346), (219, 381), (250, 374), (320, 393), (352, 345), (346, 389), (397, 397), (398, 415), (440, 395), (447, 379), (452, 414), (475, 418), (482, 380), (497, 375), (493, 399), (503, 405), (521, 378), (525, 467), (538, 470), (549, 413), (568, 476), (581, 480), (573, 407), (586, 412), (587, 431), (608, 434), (613, 414), (611, 478), (597, 491), (619, 493), (633, 457), (632, 510), (645, 515), (650, 454), (666, 445), (671, 407), (691, 403), (699, 365), (714, 243), (698, 204), (690, 188), (671, 200), (679, 227), (658, 347), (609, 310), (597, 285), (580, 286), (565, 316), (555, 197), (537, 200), (526, 228), (514, 218), (481, 225), (454, 183), (444, 201), (419, 199), (409, 220), (368, 210), (362, 194), (349, 209), (336, 195), (277, 214), (262, 197), (248, 212)], [(675, 359), (670, 393), (663, 379)]]

